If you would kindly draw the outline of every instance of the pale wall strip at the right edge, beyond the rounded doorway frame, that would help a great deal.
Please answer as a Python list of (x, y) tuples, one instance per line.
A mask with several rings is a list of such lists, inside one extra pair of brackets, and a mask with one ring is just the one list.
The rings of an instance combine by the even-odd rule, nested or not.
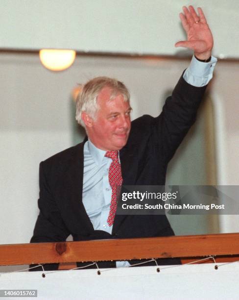
[[(213, 89), (217, 184), (239, 185), (239, 62), (218, 64)], [(239, 232), (239, 215), (220, 215), (220, 232)]]

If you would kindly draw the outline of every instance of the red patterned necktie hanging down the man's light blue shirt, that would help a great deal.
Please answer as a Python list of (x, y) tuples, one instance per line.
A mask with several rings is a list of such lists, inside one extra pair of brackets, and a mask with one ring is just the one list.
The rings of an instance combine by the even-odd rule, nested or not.
[(106, 157), (112, 159), (112, 163), (109, 168), (109, 183), (112, 188), (110, 213), (107, 219), (109, 226), (113, 225), (116, 210), (117, 210), (117, 198), (119, 196), (119, 189), (122, 184), (121, 168), (118, 159), (118, 151), (107, 151), (105, 153)]

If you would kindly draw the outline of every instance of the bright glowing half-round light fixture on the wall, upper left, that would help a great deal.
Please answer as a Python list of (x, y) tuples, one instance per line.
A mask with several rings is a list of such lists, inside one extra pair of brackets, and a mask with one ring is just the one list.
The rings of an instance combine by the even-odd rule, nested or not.
[(39, 52), (41, 63), (51, 71), (69, 68), (75, 59), (74, 50), (42, 49)]

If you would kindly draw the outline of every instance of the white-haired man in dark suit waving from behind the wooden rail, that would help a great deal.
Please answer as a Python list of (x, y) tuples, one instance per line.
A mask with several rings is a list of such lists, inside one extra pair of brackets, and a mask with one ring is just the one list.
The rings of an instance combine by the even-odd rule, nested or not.
[(157, 118), (144, 115), (131, 123), (128, 90), (116, 79), (97, 77), (83, 86), (76, 120), (88, 139), (40, 164), (40, 214), (31, 242), (65, 241), (70, 234), (74, 241), (173, 235), (165, 215), (118, 215), (115, 186), (165, 184), (167, 164), (194, 123), (212, 78), (216, 59), (204, 14), (192, 6), (183, 11), (188, 40), (175, 46), (194, 50), (194, 57)]

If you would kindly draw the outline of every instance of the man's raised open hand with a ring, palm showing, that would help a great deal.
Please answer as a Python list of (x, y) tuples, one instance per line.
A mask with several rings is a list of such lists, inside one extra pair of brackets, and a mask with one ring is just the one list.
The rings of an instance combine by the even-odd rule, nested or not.
[(198, 14), (191, 5), (189, 9), (183, 7), (184, 14), (180, 13), (179, 16), (188, 40), (177, 42), (175, 47), (190, 48), (198, 59), (206, 60), (212, 54), (213, 35), (202, 9), (198, 7), (197, 11)]

